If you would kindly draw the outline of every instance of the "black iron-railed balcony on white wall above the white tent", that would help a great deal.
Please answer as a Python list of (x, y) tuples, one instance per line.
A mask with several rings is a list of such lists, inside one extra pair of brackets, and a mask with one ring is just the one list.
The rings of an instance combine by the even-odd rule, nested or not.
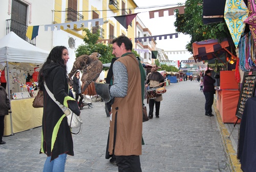
[(29, 44), (36, 45), (36, 38), (33, 40), (30, 40), (27, 36), (27, 29), (28, 26), (19, 23), (13, 19), (7, 19), (6, 20), (6, 34), (10, 33), (11, 31), (14, 32), (16, 35), (18, 35), (20, 38), (26, 40), (29, 42)]

